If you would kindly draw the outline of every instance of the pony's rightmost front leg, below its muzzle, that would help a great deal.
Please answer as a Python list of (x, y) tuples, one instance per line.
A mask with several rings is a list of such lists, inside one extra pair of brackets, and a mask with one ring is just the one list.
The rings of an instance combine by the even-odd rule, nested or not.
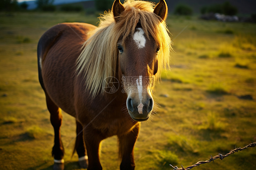
[(138, 138), (141, 123), (137, 123), (127, 134), (118, 135), (119, 153), (122, 158), (121, 170), (134, 170), (135, 163), (133, 157), (134, 144)]

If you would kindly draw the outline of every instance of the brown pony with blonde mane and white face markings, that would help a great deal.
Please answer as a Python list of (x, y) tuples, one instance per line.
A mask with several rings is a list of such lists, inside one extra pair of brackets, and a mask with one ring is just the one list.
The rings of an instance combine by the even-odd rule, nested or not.
[(55, 133), (54, 169), (64, 169), (61, 109), (77, 120), (75, 150), (82, 168), (102, 169), (99, 145), (113, 135), (120, 169), (135, 168), (140, 122), (153, 112), (154, 82), (169, 61), (166, 17), (164, 0), (115, 0), (99, 27), (61, 23), (40, 38), (38, 72)]

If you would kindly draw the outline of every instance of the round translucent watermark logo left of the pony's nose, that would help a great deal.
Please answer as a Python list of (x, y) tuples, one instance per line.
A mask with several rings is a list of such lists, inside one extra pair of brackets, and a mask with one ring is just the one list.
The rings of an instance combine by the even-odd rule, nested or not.
[(119, 82), (115, 77), (107, 77), (102, 82), (103, 90), (107, 93), (115, 93), (119, 88)]

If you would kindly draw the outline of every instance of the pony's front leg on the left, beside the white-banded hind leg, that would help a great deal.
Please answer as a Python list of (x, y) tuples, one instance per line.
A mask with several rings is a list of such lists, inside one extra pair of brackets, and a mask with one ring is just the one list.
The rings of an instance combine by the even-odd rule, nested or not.
[(88, 155), (88, 168), (87, 170), (102, 170), (99, 161), (99, 144), (105, 139), (101, 132), (93, 129), (90, 125), (84, 130), (84, 140)]

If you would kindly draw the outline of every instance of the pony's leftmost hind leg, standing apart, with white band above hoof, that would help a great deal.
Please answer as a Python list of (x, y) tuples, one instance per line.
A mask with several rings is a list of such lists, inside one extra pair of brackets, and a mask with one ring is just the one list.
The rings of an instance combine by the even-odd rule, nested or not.
[(51, 124), (54, 128), (54, 146), (52, 148), (52, 156), (54, 156), (54, 170), (64, 169), (64, 148), (60, 139), (60, 126), (62, 124), (62, 114), (61, 109), (51, 100), (51, 98), (46, 95), (47, 108), (51, 114)]

